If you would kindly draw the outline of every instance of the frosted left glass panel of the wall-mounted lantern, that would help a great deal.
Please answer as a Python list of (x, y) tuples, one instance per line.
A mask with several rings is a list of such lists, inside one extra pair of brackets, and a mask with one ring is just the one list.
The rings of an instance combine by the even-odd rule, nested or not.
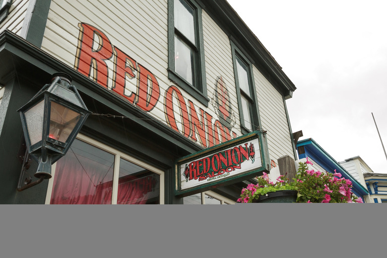
[(30, 144), (34, 145), (42, 140), (43, 135), (43, 117), (44, 117), (44, 100), (30, 108), (24, 113), (27, 125)]

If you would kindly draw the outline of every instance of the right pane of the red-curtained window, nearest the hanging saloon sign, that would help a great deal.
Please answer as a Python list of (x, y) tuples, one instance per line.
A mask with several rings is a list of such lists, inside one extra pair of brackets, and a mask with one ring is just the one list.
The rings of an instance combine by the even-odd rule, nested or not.
[(160, 175), (120, 160), (117, 204), (159, 204)]

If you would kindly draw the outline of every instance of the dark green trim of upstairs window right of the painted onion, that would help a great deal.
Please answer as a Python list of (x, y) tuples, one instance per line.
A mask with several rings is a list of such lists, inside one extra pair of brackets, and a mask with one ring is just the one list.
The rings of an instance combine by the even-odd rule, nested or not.
[[(242, 48), (239, 48), (237, 46), (237, 43), (234, 42), (232, 39), (230, 40), (231, 44), (231, 50), (232, 50), (232, 57), (233, 57), (233, 65), (234, 65), (234, 75), (235, 75), (235, 85), (237, 89), (237, 98), (238, 98), (238, 108), (239, 108), (239, 116), (240, 116), (240, 122), (241, 122), (241, 130), (243, 133), (249, 133), (254, 130), (258, 130), (261, 128), (260, 124), (260, 118), (259, 118), (259, 109), (258, 109), (258, 99), (257, 99), (257, 92), (256, 87), (254, 83), (254, 76), (253, 76), (253, 62), (248, 57), (246, 53), (243, 52)], [(243, 91), (240, 88), (239, 85), (239, 78), (238, 78), (238, 70), (237, 70), (237, 59), (239, 59), (244, 65), (247, 67), (247, 74), (248, 74), (248, 82), (249, 82), (249, 90), (250, 90), (250, 96), (247, 94), (244, 94)], [(242, 109), (242, 95), (245, 99), (249, 100), (250, 102), (250, 120), (252, 129), (248, 129), (245, 123), (245, 118), (243, 114)]]

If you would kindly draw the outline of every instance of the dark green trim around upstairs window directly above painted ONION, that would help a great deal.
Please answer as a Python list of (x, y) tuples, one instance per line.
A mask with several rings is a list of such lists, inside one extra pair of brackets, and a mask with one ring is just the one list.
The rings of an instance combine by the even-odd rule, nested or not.
[[(186, 81), (175, 71), (175, 35), (184, 37), (175, 28), (174, 1), (168, 0), (168, 78), (191, 94), (200, 103), (208, 106), (207, 85), (205, 80), (203, 26), (201, 19), (202, 7), (196, 0), (184, 0), (194, 9), (195, 46), (193, 58), (193, 84)], [(185, 40), (183, 40), (185, 41)], [(186, 42), (185, 43), (189, 43)]]

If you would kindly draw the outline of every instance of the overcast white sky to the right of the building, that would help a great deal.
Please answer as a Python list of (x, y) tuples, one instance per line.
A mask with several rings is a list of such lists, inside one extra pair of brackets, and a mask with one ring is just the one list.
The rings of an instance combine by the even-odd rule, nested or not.
[(297, 87), (286, 101), (293, 132), (336, 161), (387, 159), (386, 0), (227, 0)]

